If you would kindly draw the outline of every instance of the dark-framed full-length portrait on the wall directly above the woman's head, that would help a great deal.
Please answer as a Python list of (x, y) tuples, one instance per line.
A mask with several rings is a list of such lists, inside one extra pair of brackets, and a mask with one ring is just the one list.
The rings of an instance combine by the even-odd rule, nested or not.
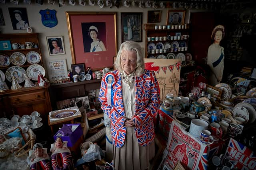
[(122, 42), (142, 42), (142, 12), (121, 12)]

